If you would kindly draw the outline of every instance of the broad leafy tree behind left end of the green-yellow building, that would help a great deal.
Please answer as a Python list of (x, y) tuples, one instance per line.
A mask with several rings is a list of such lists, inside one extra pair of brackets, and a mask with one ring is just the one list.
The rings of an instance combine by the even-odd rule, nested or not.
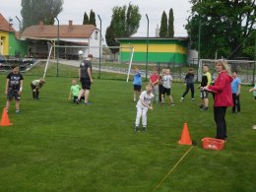
[[(119, 46), (115, 41), (118, 37), (129, 37), (136, 33), (140, 27), (141, 14), (139, 7), (132, 5), (112, 9), (112, 19), (110, 26), (106, 30), (105, 39), (108, 46)], [(116, 49), (111, 49), (115, 53)], [(118, 49), (117, 49), (118, 51)]]

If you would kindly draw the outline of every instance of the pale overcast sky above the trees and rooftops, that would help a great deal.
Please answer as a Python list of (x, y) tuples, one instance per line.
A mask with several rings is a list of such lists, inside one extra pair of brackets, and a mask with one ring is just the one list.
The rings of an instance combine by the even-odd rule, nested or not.
[[(13, 27), (19, 31), (19, 23), (15, 16), (22, 20), (21, 16), (22, 0), (0, 0), (0, 13), (8, 20), (13, 19)], [(142, 19), (140, 28), (134, 36), (147, 35), (147, 18), (149, 16), (150, 28), (149, 35), (155, 36), (157, 25), (160, 26), (160, 18), (163, 11), (168, 16), (169, 9), (173, 9), (174, 14), (174, 36), (187, 36), (184, 29), (186, 19), (189, 16), (191, 5), (189, 0), (64, 0), (63, 11), (58, 15), (60, 24), (68, 24), (68, 21), (73, 21), (75, 25), (83, 24), (84, 13), (90, 14), (91, 9), (96, 13), (96, 26), (99, 29), (100, 16), (102, 21), (102, 34), (104, 35), (106, 28), (109, 26), (112, 16), (112, 8), (114, 6), (128, 5), (131, 2), (133, 5), (138, 5)]]

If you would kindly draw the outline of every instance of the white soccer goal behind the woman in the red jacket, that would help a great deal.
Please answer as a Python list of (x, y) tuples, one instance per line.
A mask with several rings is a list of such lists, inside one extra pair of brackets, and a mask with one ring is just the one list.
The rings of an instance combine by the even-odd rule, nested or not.
[[(208, 65), (210, 73), (212, 74), (213, 80), (216, 79), (217, 72), (215, 69), (215, 64), (217, 60), (214, 59), (200, 59), (198, 66), (198, 80), (202, 80), (203, 66)], [(242, 84), (253, 84), (255, 80), (255, 68), (254, 61), (250, 60), (226, 60), (227, 64), (230, 66), (231, 70), (236, 70), (238, 77), (241, 79)]]

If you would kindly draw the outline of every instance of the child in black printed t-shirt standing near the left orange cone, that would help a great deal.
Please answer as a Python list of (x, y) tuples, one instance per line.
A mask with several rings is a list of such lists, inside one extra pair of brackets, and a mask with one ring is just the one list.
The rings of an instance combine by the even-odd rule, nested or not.
[(16, 113), (20, 113), (20, 99), (23, 91), (23, 75), (20, 73), (20, 68), (18, 65), (13, 65), (12, 72), (7, 75), (6, 85), (5, 85), (5, 95), (7, 96), (6, 110), (8, 112), (10, 108), (11, 101), (15, 97), (15, 107)]

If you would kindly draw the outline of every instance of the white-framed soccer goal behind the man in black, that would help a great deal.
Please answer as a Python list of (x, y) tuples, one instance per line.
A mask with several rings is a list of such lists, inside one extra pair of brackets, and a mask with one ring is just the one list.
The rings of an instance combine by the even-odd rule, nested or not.
[(89, 54), (93, 59), (93, 77), (98, 79), (129, 80), (133, 63), (132, 46), (84, 46), (51, 44), (45, 63), (43, 78), (48, 71), (56, 76), (78, 77), (78, 67)]

